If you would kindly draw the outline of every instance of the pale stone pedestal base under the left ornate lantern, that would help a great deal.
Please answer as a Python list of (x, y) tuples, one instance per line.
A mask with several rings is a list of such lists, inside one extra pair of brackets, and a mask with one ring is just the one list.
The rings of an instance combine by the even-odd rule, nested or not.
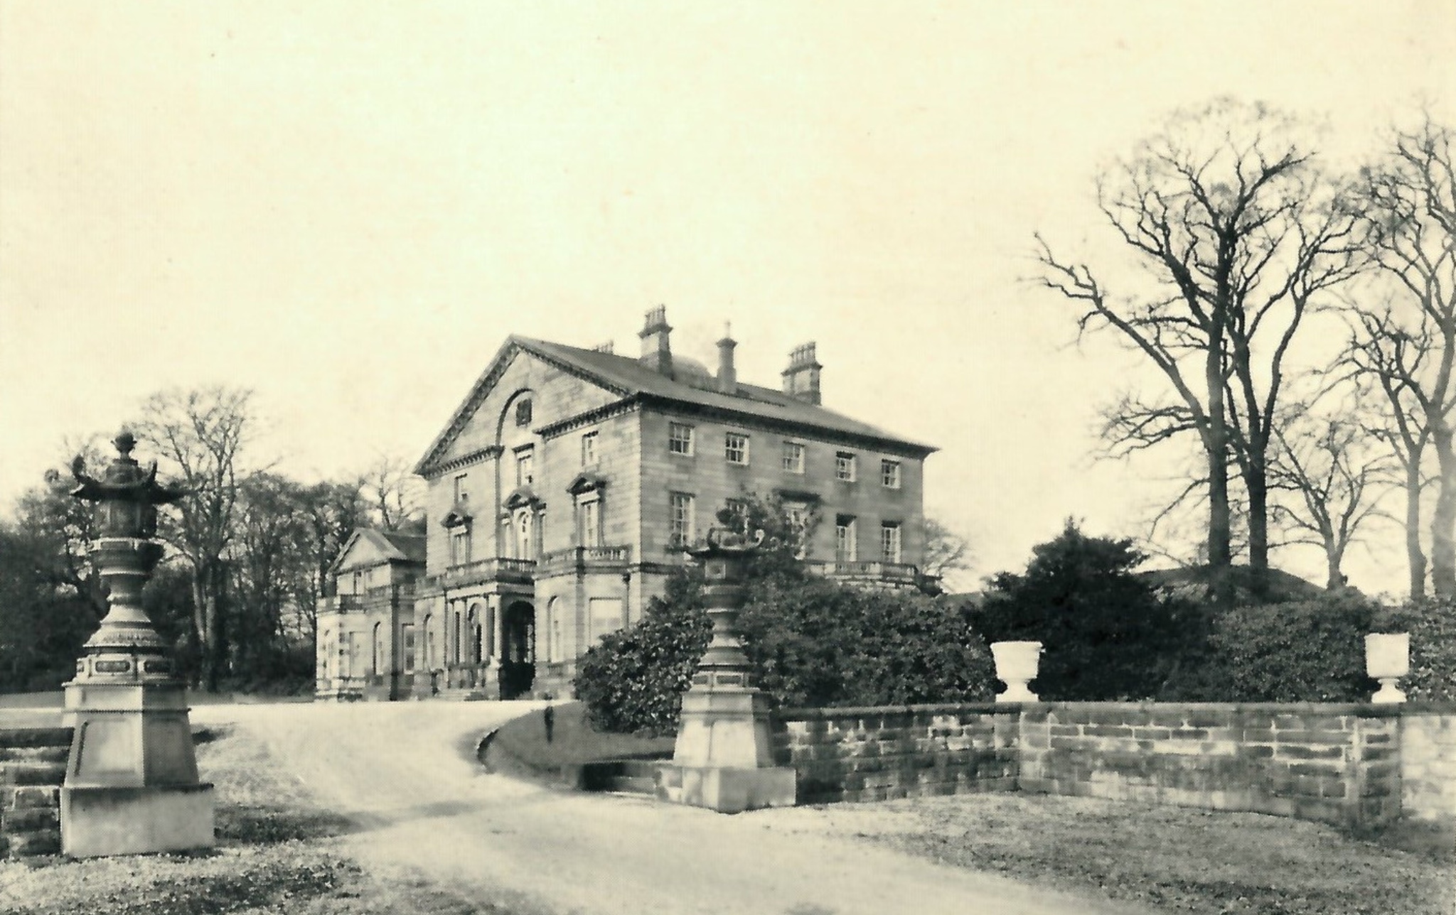
[(61, 851), (84, 858), (211, 848), (213, 786), (198, 780), (183, 687), (147, 682), (143, 658), (127, 659), (130, 671), (122, 659), (87, 659), (66, 684), (74, 738), (61, 787)]

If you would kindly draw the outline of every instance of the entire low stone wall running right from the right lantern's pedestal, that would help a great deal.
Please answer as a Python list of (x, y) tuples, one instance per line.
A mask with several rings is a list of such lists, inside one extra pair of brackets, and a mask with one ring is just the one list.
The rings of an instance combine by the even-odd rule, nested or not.
[[(1028, 703), (789, 708), (799, 803), (1040, 791), (1377, 828), (1456, 822), (1456, 708)], [(1404, 807), (1404, 810), (1402, 810)]]

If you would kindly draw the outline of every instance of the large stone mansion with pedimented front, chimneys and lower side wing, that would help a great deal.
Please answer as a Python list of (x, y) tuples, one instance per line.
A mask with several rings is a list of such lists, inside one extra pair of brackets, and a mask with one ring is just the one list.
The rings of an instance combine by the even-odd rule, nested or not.
[(358, 531), (319, 607), (319, 695), (569, 695), (575, 659), (635, 623), (729, 500), (815, 518), (811, 569), (913, 586), (935, 448), (820, 404), (814, 343), (782, 390), (674, 355), (665, 310), (641, 358), (511, 336), (415, 467), (422, 540)]

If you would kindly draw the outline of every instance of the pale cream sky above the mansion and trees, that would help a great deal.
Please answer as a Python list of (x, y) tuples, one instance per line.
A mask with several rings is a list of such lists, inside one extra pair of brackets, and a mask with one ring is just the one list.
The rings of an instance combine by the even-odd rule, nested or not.
[[(1156, 464), (1089, 454), (1139, 365), (1019, 282), (1032, 231), (1102, 244), (1093, 177), (1169, 109), (1353, 157), (1453, 61), (1450, 0), (0, 0), (0, 506), (173, 385), (255, 388), (300, 477), (414, 460), (508, 333), (635, 353), (665, 304), (676, 353), (731, 320), (773, 385), (817, 340), (826, 406), (939, 445), (977, 573), (1134, 535)], [(1399, 588), (1388, 540), (1354, 583)]]

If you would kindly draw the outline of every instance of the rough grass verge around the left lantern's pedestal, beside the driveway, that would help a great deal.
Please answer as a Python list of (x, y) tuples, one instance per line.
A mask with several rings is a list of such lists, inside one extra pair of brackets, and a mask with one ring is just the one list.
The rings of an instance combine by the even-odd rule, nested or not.
[(482, 915), (520, 905), (411, 871), (367, 874), (341, 836), (358, 829), (320, 807), (245, 732), (198, 735), (198, 767), (217, 786), (213, 852), (0, 861), (12, 915)]

